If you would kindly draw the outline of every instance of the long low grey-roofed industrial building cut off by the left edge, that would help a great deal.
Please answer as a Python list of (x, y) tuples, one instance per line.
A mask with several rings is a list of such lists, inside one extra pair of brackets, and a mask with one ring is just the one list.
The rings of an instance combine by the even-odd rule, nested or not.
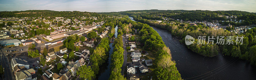
[(4, 41), (0, 41), (0, 44), (2, 46), (6, 46), (6, 45), (15, 45), (15, 46), (19, 46), (21, 44), (20, 40), (18, 39), (11, 39), (11, 40), (4, 40)]

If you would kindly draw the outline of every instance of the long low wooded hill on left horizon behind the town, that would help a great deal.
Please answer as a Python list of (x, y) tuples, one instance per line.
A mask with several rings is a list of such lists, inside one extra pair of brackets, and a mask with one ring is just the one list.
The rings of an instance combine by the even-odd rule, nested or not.
[(77, 17), (77, 16), (100, 16), (96, 12), (79, 12), (79, 11), (51, 11), (51, 10), (27, 10), (27, 11), (2, 11), (0, 18), (9, 17)]

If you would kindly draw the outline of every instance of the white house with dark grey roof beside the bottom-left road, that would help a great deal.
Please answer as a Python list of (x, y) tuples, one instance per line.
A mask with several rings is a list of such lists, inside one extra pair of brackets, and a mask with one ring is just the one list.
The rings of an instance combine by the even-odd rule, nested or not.
[(17, 58), (13, 58), (11, 60), (11, 66), (12, 66), (12, 70), (14, 70), (15, 66), (19, 66), (19, 67), (24, 66), (26, 69), (29, 68), (29, 64), (27, 60), (17, 59)]

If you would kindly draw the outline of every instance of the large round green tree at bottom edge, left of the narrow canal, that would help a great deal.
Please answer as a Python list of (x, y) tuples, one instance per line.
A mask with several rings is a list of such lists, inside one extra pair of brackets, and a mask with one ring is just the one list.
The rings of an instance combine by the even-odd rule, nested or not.
[(85, 80), (92, 80), (92, 77), (95, 76), (91, 66), (86, 67), (86, 65), (79, 67), (77, 75), (80, 75), (80, 78), (84, 78)]

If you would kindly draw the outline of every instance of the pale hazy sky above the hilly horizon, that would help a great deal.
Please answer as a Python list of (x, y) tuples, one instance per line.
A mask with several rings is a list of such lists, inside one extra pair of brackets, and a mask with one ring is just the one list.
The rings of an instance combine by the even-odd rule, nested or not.
[(0, 11), (120, 12), (158, 9), (256, 12), (256, 0), (0, 0), (0, 2)]

